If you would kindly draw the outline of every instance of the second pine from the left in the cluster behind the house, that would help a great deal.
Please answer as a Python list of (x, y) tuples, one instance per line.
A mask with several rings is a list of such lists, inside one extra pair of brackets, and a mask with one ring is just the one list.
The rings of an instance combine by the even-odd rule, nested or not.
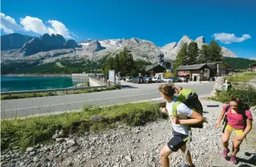
[(196, 61), (197, 61), (197, 58), (198, 58), (198, 53), (199, 49), (197, 47), (197, 43), (196, 42), (191, 42), (189, 44), (189, 47), (188, 47), (188, 53), (187, 53), (187, 64), (188, 65), (192, 65), (192, 64), (195, 64)]

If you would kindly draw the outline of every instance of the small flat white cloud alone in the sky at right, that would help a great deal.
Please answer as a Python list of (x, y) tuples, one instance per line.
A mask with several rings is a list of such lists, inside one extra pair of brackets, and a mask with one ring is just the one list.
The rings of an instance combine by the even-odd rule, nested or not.
[(213, 34), (215, 40), (219, 40), (224, 44), (231, 44), (232, 42), (243, 42), (246, 39), (251, 39), (252, 36), (249, 34), (243, 34), (241, 37), (235, 36), (235, 34), (227, 34), (227, 33), (215, 33)]

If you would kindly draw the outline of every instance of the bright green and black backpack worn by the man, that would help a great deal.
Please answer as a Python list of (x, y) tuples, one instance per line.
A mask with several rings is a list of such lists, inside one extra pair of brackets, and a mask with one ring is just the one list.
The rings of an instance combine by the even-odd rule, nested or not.
[[(180, 91), (177, 101), (175, 101), (172, 106), (172, 117), (177, 117), (177, 106), (180, 103), (186, 104), (186, 106), (189, 106), (190, 109), (202, 115), (202, 104), (194, 90), (185, 88)], [(191, 128), (202, 128), (202, 123), (189, 126)]]

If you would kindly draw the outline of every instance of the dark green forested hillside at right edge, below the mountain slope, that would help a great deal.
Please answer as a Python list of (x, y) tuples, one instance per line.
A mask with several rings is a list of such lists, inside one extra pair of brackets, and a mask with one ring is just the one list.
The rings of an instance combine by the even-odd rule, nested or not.
[(232, 66), (233, 69), (249, 69), (249, 65), (256, 61), (247, 58), (224, 58), (224, 63)]

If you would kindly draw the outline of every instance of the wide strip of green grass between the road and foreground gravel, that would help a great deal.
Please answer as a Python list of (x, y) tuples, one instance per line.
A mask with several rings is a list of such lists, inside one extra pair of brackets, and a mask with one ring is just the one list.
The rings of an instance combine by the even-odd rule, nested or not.
[[(92, 115), (105, 118), (103, 122), (92, 122)], [(56, 130), (63, 130), (66, 135), (75, 133), (83, 135), (86, 131), (102, 131), (119, 124), (145, 125), (145, 123), (162, 117), (157, 104), (149, 102), (122, 104), (108, 107), (84, 106), (81, 112), (56, 114), (45, 117), (1, 120), (1, 149), (13, 146), (32, 147), (51, 141)]]

